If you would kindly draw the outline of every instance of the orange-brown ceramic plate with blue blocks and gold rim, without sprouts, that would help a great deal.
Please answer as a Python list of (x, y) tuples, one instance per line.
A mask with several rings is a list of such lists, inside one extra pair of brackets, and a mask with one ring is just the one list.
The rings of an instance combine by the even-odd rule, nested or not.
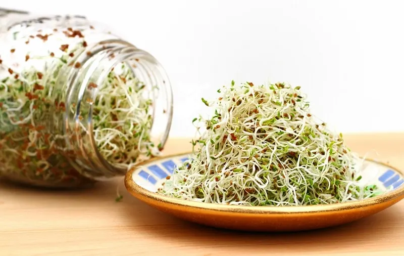
[[(188, 156), (167, 156), (142, 163), (127, 173), (126, 188), (141, 201), (178, 218), (245, 231), (299, 231), (336, 226), (373, 215), (404, 197), (402, 173), (370, 159), (363, 164), (361, 182), (377, 184), (386, 192), (360, 201), (310, 206), (238, 206), (191, 202), (157, 194), (165, 178)], [(393, 190), (387, 191), (389, 187)]]

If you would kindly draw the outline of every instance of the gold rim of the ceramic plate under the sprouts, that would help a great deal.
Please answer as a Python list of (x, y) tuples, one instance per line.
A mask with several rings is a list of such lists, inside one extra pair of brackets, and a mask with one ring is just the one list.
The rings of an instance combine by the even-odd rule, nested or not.
[[(171, 157), (178, 157), (181, 155), (190, 155), (192, 152), (183, 152), (165, 156), (154, 157), (144, 162), (139, 163), (137, 166), (130, 169), (125, 176), (125, 187), (126, 189), (136, 198), (144, 201), (155, 201), (158, 204), (169, 204), (172, 206), (180, 206), (180, 207), (190, 207), (190, 208), (198, 208), (201, 210), (209, 210), (216, 212), (225, 212), (226, 214), (309, 214), (315, 212), (330, 212), (330, 211), (341, 211), (341, 210), (349, 210), (355, 208), (362, 208), (372, 205), (377, 205), (380, 203), (395, 201), (398, 202), (402, 198), (404, 198), (404, 185), (401, 185), (399, 188), (390, 191), (386, 194), (379, 195), (373, 198), (358, 200), (358, 201), (350, 201), (343, 203), (333, 203), (333, 204), (317, 204), (317, 205), (304, 205), (304, 206), (244, 206), (244, 205), (227, 205), (227, 204), (214, 204), (214, 203), (203, 203), (203, 202), (194, 202), (187, 201), (178, 198), (171, 198), (168, 196), (160, 195), (156, 192), (151, 192), (147, 189), (142, 188), (137, 185), (136, 182), (133, 181), (133, 173), (143, 165), (149, 164), (154, 161), (158, 161), (161, 159), (167, 159)], [(373, 159), (365, 158), (365, 160), (370, 162), (375, 162), (381, 165), (384, 165), (395, 172), (399, 173), (402, 177), (404, 174), (396, 167), (386, 164), (381, 161), (376, 161)]]

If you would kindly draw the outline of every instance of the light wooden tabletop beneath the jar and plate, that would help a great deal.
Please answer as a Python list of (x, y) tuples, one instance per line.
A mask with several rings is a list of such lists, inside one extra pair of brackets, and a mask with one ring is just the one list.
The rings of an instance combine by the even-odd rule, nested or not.
[[(404, 134), (345, 136), (404, 168)], [(165, 152), (190, 149), (171, 140)], [(373, 153), (372, 153), (373, 152)], [(116, 189), (124, 195), (115, 202)], [(404, 201), (348, 225), (289, 234), (241, 233), (167, 216), (131, 197), (123, 179), (80, 191), (0, 183), (0, 255), (404, 255)]]

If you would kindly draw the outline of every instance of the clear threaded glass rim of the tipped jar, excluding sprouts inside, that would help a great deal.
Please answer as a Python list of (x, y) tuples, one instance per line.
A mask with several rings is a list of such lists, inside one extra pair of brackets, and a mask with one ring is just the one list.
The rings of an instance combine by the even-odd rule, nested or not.
[[(126, 41), (101, 41), (96, 44), (90, 52), (91, 54), (86, 52), (78, 56), (77, 61), (81, 63), (81, 68), (79, 70), (72, 69), (68, 76), (69, 93), (67, 94), (66, 104), (69, 106), (76, 101), (76, 111), (75, 114), (72, 115), (72, 113), (69, 112), (69, 107), (66, 107), (65, 131), (73, 132), (76, 136), (76, 140), (73, 142), (75, 145), (73, 145), (73, 147), (81, 152), (81, 159), (78, 165), (82, 165), (81, 167), (85, 166), (84, 175), (95, 179), (124, 175), (128, 167), (125, 168), (111, 163), (98, 150), (93, 131), (93, 105), (91, 104), (89, 106), (88, 116), (82, 119), (79, 118), (83, 106), (85, 106), (85, 94), (88, 92), (87, 89), (91, 76), (97, 74), (96, 83), (100, 84), (104, 79), (107, 79), (110, 70), (113, 70), (117, 65), (132, 61), (136, 62), (136, 65), (132, 67), (134, 75), (136, 77), (138, 75), (142, 76), (142, 82), (145, 84), (146, 90), (153, 94), (153, 114), (151, 117), (151, 126), (147, 132), (150, 135), (150, 139), (153, 140), (154, 143), (158, 143), (157, 148), (159, 151), (163, 149), (167, 142), (171, 129), (173, 117), (173, 93), (171, 83), (166, 71), (156, 58)], [(101, 69), (102, 72), (97, 73), (97, 71)], [(155, 90), (156, 86), (158, 87), (157, 92)], [(97, 90), (93, 91), (92, 98), (95, 99)], [(82, 134), (78, 132), (80, 130), (78, 127), (83, 126), (83, 124), (88, 128), (85, 138), (80, 137)], [(163, 131), (161, 132), (159, 129)], [(154, 153), (157, 155), (159, 152)], [(139, 156), (144, 157), (143, 152), (139, 151)], [(149, 156), (146, 156), (146, 158), (147, 157)], [(137, 164), (137, 162), (138, 160), (136, 159), (133, 164)]]

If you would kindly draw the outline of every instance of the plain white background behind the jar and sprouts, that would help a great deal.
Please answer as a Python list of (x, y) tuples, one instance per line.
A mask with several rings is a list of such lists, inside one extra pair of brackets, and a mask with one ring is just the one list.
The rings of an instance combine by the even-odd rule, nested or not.
[(200, 98), (216, 98), (232, 79), (299, 85), (312, 112), (344, 133), (404, 131), (403, 1), (0, 0), (0, 6), (82, 14), (154, 55), (173, 84), (173, 137), (193, 136), (191, 120), (207, 112)]

